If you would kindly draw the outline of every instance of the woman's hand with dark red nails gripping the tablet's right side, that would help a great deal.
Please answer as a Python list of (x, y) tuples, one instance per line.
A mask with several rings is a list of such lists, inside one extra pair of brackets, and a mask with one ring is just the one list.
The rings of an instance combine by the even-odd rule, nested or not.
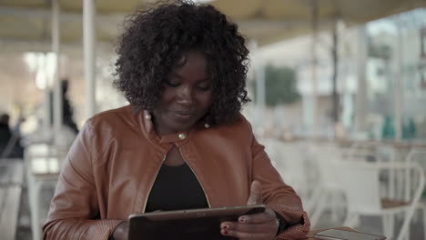
[[(262, 187), (259, 181), (253, 181), (250, 187), (250, 196), (247, 205), (261, 205)], [(220, 225), (220, 233), (243, 239), (274, 239), (279, 229), (279, 221), (275, 213), (266, 208), (265, 212), (254, 215), (241, 215), (238, 222), (223, 222)]]

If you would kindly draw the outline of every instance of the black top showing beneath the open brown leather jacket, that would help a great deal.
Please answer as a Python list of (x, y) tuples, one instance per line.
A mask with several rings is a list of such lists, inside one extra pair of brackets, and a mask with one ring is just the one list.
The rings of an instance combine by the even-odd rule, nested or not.
[(147, 199), (145, 212), (205, 208), (208, 202), (189, 166), (162, 165)]

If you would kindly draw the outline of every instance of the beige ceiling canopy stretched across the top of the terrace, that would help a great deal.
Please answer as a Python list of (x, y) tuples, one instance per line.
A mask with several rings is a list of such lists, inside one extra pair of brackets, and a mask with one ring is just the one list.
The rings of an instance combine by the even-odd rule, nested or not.
[[(60, 0), (61, 45), (81, 49), (82, 0)], [(96, 37), (111, 45), (124, 17), (152, 0), (97, 0)], [(268, 45), (311, 31), (313, 0), (215, 0), (210, 2), (238, 23), (240, 31), (259, 45)], [(426, 0), (316, 0), (320, 29), (330, 29), (337, 19), (360, 25), (381, 17), (426, 6)], [(0, 1), (0, 49), (49, 51), (51, 0)]]

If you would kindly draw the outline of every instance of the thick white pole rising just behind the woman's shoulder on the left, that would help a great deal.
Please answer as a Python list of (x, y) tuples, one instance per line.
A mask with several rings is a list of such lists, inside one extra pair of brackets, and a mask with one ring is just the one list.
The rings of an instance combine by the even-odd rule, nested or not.
[(95, 58), (95, 15), (94, 0), (83, 0), (83, 47), (86, 78), (86, 115), (96, 113), (96, 58)]

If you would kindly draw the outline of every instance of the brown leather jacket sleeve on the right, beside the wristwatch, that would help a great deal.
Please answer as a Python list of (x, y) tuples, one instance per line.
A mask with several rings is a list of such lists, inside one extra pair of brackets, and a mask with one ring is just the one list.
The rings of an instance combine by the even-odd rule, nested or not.
[(309, 219), (303, 211), (299, 195), (289, 185), (286, 185), (279, 173), (270, 163), (264, 146), (259, 145), (252, 137), (251, 151), (253, 155), (253, 179), (262, 185), (263, 202), (274, 212), (284, 218), (287, 228), (276, 239), (304, 239), (309, 233)]

